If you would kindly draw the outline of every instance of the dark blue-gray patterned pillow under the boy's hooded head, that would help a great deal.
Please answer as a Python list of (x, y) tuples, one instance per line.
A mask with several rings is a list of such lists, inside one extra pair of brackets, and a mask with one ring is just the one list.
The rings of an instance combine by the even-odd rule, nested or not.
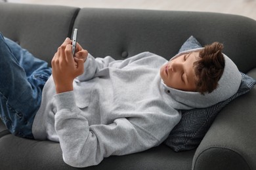
[[(202, 45), (191, 36), (184, 42), (184, 44), (182, 44), (179, 52), (200, 47), (202, 47)], [(256, 80), (244, 73), (241, 73), (241, 75), (242, 81), (240, 88), (238, 89), (238, 92), (232, 95), (229, 99), (203, 109), (181, 110), (181, 121), (173, 128), (164, 143), (171, 147), (175, 152), (192, 150), (198, 147), (221, 109), (230, 103), (230, 101), (236, 99), (236, 97), (249, 92), (249, 90), (255, 86)]]

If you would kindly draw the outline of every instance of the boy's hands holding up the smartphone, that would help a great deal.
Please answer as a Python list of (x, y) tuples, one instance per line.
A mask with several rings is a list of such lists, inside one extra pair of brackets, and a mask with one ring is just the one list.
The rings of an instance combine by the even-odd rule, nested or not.
[(73, 57), (72, 41), (67, 38), (52, 59), (56, 93), (72, 91), (74, 78), (83, 74), (83, 62), (88, 52), (83, 50), (79, 44), (75, 50), (75, 57)]

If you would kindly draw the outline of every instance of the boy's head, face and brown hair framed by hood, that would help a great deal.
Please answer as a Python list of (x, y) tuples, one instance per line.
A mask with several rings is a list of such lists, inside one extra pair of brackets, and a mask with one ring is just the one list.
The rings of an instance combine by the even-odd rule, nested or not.
[(160, 69), (163, 82), (177, 90), (211, 93), (224, 71), (223, 44), (213, 42), (199, 51), (171, 59)]

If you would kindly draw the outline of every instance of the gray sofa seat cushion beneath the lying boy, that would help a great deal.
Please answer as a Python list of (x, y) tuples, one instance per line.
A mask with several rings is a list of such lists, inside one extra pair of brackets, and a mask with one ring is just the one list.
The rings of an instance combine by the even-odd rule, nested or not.
[[(190, 169), (194, 150), (173, 152), (161, 144), (157, 148), (127, 156), (111, 156), (97, 166), (85, 169)], [(0, 138), (1, 169), (75, 169), (64, 163), (58, 143), (20, 139), (13, 135)]]

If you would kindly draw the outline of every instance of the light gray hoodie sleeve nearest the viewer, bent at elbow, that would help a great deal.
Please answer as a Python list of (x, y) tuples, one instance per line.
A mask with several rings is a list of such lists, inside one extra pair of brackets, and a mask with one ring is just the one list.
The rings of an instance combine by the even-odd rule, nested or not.
[[(138, 118), (117, 118), (110, 124), (89, 126), (81, 110), (75, 106), (74, 93), (55, 95), (58, 112), (55, 114), (55, 130), (59, 137), (64, 161), (74, 167), (97, 165), (111, 155), (131, 154), (157, 146), (164, 138), (152, 135)], [(164, 122), (166, 117), (160, 121)], [(141, 121), (140, 121), (141, 122)], [(167, 124), (164, 122), (163, 124)], [(159, 127), (153, 117), (147, 126), (156, 133), (169, 134), (171, 128)], [(158, 128), (156, 128), (158, 127)], [(159, 135), (159, 134), (158, 134)], [(160, 139), (161, 138), (161, 139)]]

